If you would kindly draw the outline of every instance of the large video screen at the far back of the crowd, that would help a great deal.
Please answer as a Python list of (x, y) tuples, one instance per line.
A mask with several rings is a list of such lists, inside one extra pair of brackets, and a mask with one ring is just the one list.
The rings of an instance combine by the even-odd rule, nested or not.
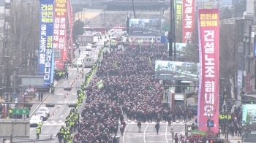
[(130, 36), (153, 36), (160, 39), (165, 35), (164, 19), (129, 18)]

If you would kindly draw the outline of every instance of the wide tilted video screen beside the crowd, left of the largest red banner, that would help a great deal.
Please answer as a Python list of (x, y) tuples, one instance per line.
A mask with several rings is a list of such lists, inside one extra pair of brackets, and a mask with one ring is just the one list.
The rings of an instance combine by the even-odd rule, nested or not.
[(198, 79), (199, 63), (180, 61), (155, 61), (155, 75), (170, 75), (174, 78), (188, 77)]

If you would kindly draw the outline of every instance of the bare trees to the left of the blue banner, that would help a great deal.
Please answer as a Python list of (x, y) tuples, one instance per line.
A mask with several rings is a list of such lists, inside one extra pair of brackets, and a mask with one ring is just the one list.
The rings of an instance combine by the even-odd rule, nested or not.
[(3, 54), (10, 56), (10, 67), (23, 68), (22, 65), (26, 65), (30, 56), (38, 49), (38, 1), (32, 1), (30, 4), (13, 1), (8, 21), (9, 28), (6, 30), (7, 41)]

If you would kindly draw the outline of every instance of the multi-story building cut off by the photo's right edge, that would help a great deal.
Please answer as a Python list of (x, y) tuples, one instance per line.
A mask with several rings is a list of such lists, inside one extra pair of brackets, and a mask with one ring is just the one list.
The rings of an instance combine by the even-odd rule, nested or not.
[[(243, 19), (248, 21), (245, 26), (246, 32), (244, 33), (243, 45), (243, 72), (241, 88), (247, 94), (256, 93), (256, 20), (255, 20), (255, 7), (256, 4), (252, 0), (246, 1), (246, 12), (244, 12)], [(239, 82), (239, 81), (238, 81)], [(255, 95), (256, 97), (256, 95)]]

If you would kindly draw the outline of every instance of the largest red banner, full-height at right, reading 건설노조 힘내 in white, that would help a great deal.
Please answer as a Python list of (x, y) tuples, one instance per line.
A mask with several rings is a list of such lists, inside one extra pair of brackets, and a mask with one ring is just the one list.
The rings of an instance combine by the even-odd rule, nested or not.
[(214, 120), (211, 131), (219, 132), (219, 9), (199, 9), (200, 94), (199, 131), (208, 131), (207, 120)]

